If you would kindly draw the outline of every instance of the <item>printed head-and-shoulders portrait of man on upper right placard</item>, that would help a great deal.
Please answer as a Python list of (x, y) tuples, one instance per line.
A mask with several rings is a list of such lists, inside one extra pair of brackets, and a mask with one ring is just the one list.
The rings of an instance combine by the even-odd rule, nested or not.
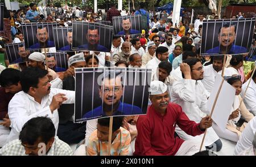
[(234, 45), (236, 41), (237, 26), (233, 23), (224, 23), (218, 30), (218, 41), (220, 45), (207, 50), (209, 54), (240, 54), (246, 53), (246, 48), (243, 46)]

